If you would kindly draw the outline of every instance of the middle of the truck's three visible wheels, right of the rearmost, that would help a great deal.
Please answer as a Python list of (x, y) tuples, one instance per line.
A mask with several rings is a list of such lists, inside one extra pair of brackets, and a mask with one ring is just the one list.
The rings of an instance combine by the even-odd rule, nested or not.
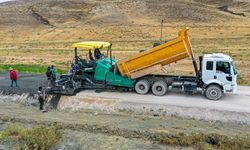
[(162, 80), (156, 81), (152, 86), (152, 92), (156, 96), (165, 95), (167, 92), (167, 84)]

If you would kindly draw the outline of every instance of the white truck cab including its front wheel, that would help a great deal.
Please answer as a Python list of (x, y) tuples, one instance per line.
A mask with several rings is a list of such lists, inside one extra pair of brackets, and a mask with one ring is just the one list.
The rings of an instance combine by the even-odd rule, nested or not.
[(203, 88), (208, 99), (218, 100), (223, 93), (237, 91), (237, 72), (230, 56), (222, 53), (205, 54), (201, 70)]

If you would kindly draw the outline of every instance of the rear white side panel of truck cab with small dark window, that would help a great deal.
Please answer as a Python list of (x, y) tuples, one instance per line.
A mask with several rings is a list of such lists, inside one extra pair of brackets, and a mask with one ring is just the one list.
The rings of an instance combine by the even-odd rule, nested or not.
[(214, 61), (203, 61), (202, 67), (202, 81), (204, 83), (208, 83), (210, 80), (214, 79), (214, 71), (215, 71)]

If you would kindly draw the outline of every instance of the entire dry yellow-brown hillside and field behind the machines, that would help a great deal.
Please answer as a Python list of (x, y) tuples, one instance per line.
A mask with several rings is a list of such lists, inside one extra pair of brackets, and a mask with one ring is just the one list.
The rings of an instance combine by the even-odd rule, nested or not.
[[(54, 64), (67, 68), (70, 45), (84, 40), (113, 43), (122, 59), (173, 39), (190, 27), (196, 54), (223, 52), (250, 84), (250, 2), (247, 0), (17, 0), (0, 4), (0, 64)], [(82, 55), (86, 54), (82, 52)], [(190, 65), (187, 65), (190, 64)], [(176, 69), (177, 68), (177, 69)], [(168, 66), (192, 74), (189, 59)], [(185, 70), (185, 71), (183, 71)]]

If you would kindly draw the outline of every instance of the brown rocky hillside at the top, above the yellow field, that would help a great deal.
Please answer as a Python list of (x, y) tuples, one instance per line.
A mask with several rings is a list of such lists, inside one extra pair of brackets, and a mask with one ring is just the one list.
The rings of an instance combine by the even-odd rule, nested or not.
[(0, 4), (1, 26), (232, 24), (248, 22), (247, 0), (17, 0)]

